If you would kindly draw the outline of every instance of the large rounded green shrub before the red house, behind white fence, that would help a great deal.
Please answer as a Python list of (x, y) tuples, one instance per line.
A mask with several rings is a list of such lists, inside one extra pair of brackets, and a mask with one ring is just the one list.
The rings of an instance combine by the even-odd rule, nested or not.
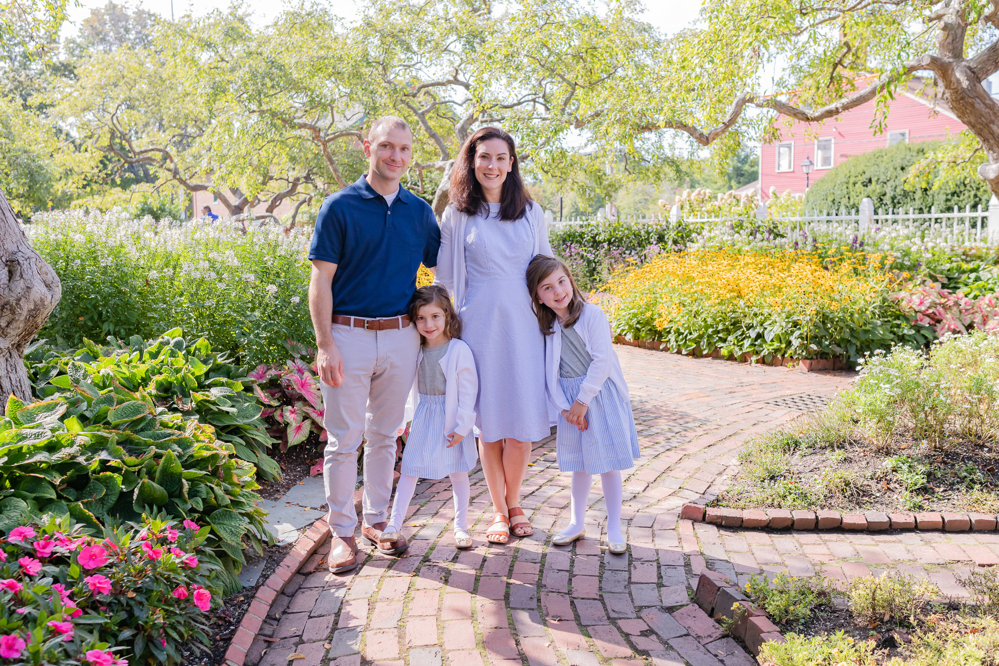
[(829, 212), (859, 209), (864, 197), (874, 202), (875, 211), (885, 212), (891, 208), (908, 213), (912, 208), (916, 213), (929, 213), (933, 207), (937, 211), (953, 211), (955, 206), (963, 211), (967, 205), (974, 209), (978, 204), (988, 208), (990, 193), (980, 178), (959, 178), (938, 190), (931, 187), (933, 179), (925, 187), (906, 187), (905, 179), (912, 166), (938, 147), (933, 142), (898, 144), (854, 156), (815, 181), (805, 195), (804, 209)]

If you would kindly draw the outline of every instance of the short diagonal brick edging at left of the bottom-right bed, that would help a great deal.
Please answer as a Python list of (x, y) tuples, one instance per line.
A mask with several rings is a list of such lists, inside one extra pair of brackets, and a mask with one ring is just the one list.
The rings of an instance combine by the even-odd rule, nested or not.
[[(735, 620), (730, 633), (746, 644), (752, 656), (759, 656), (759, 649), (767, 641), (784, 642), (780, 629), (761, 608), (749, 601), (742, 591), (729, 584), (728, 579), (716, 571), (706, 571), (697, 578), (694, 603), (715, 620)], [(738, 603), (738, 612), (732, 605)]]

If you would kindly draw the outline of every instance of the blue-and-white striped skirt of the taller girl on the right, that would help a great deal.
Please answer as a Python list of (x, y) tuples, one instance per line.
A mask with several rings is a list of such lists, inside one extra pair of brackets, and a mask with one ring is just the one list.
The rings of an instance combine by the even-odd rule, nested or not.
[[(565, 398), (571, 403), (579, 394), (585, 377), (558, 377)], [(617, 386), (606, 379), (586, 409), (588, 427), (579, 432), (565, 418), (558, 415), (555, 435), (555, 455), (561, 471), (584, 471), (602, 474), (614, 469), (634, 466), (632, 460), (638, 453), (638, 433), (630, 403), (617, 392)]]

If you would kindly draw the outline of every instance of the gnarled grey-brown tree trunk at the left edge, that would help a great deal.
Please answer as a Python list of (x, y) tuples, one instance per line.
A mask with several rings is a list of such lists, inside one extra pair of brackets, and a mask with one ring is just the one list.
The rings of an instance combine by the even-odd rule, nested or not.
[[(24, 348), (62, 296), (59, 276), (28, 244), (0, 190), (0, 399), (31, 399)], [(2, 409), (2, 406), (0, 406)]]

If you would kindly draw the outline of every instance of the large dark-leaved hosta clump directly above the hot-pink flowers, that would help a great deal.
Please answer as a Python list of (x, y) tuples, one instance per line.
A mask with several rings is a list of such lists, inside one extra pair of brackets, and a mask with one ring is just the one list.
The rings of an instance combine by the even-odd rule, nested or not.
[(228, 591), (243, 549), (271, 539), (254, 467), (211, 425), (170, 412), (142, 387), (100, 390), (84, 378), (45, 400), (11, 396), (0, 417), (0, 529), (39, 513), (93, 529), (157, 512), (208, 526), (206, 561)]

